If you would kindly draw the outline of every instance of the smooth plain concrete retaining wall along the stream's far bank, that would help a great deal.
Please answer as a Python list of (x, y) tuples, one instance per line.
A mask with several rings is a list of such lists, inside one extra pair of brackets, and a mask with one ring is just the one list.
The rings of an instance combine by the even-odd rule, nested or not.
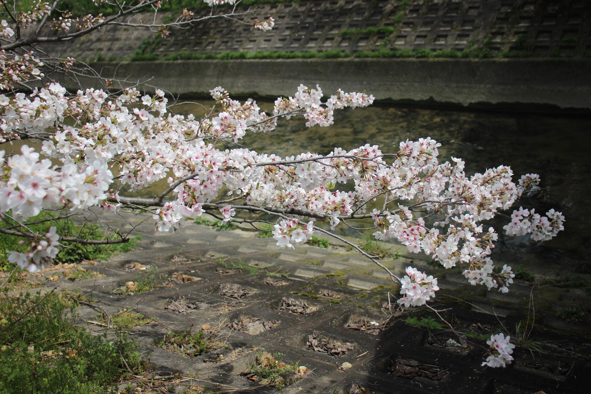
[(215, 86), (236, 97), (293, 95), (304, 83), (319, 84), (327, 94), (338, 88), (365, 90), (398, 104), (591, 109), (587, 59), (178, 60), (92, 66), (105, 77), (150, 79), (140, 85), (142, 91), (156, 86), (186, 97), (207, 96)]

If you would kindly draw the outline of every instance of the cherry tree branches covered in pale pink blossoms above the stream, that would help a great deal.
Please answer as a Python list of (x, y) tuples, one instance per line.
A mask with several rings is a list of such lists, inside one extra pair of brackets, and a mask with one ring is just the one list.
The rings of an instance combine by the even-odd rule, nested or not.
[[(457, 264), (471, 285), (508, 292), (511, 267), (494, 270), (489, 257), (498, 233), (486, 222), (510, 211), (524, 193), (537, 188), (535, 174), (515, 177), (508, 166), (498, 166), (469, 175), (462, 159), (440, 160), (441, 144), (428, 136), (403, 141), (398, 149), (385, 152), (365, 144), (353, 150), (336, 147), (327, 155), (301, 153), (280, 157), (248, 148), (223, 148), (246, 133), (272, 133), (279, 120), (304, 117), (308, 127), (329, 127), (335, 111), (371, 105), (366, 93), (339, 90), (327, 98), (319, 86), (300, 85), (293, 96), (275, 101), (267, 114), (255, 101), (239, 102), (217, 87), (210, 91), (216, 105), (202, 118), (173, 115), (164, 91), (141, 93), (134, 87), (114, 91), (80, 89), (68, 93), (48, 80), (43, 87), (25, 93), (27, 83), (45, 82), (46, 63), (30, 49), (34, 43), (71, 40), (123, 17), (151, 9), (155, 15), (160, 2), (137, 1), (119, 6), (116, 15), (86, 15), (71, 18), (66, 11), (53, 18), (59, 1), (39, 2), (28, 12), (17, 13), (4, 5), (12, 25), (2, 20), (0, 37), (0, 217), (18, 225), (0, 227), (4, 234), (21, 237), (28, 250), (8, 251), (9, 261), (36, 272), (51, 264), (61, 243), (124, 243), (129, 234), (113, 231), (105, 240), (85, 240), (60, 235), (56, 227), (37, 234), (28, 220), (42, 211), (51, 218), (70, 217), (77, 212), (104, 209), (125, 215), (148, 213), (155, 231), (173, 232), (186, 219), (207, 213), (223, 222), (254, 224), (270, 222), (278, 247), (296, 247), (315, 233), (338, 238), (388, 272), (401, 285), (404, 306), (427, 305), (439, 290), (437, 279), (408, 267), (397, 277), (357, 244), (333, 232), (351, 221), (368, 219), (377, 240), (395, 240), (410, 253), (424, 253), (443, 267)], [(213, 6), (237, 3), (206, 0), (212, 6), (207, 17), (195, 17), (187, 10), (167, 25), (143, 24), (162, 34), (168, 28), (183, 27), (216, 14)], [(135, 5), (134, 5), (135, 4)], [(50, 24), (54, 35), (40, 35)], [(268, 30), (273, 21), (255, 20), (254, 28)], [(33, 34), (25, 35), (25, 30)], [(55, 65), (55, 60), (52, 59)], [(61, 70), (75, 60), (61, 59)], [(20, 89), (20, 90), (19, 90)], [(40, 151), (23, 146), (10, 152), (15, 140), (40, 140)], [(394, 142), (394, 141), (393, 141)], [(54, 165), (51, 159), (61, 164)], [(168, 188), (153, 198), (122, 196), (121, 190), (137, 191), (166, 179)], [(369, 212), (368, 204), (381, 209)], [(236, 215), (239, 212), (240, 215)], [(267, 219), (261, 219), (261, 214)], [(270, 221), (268, 218), (274, 218)], [(46, 219), (50, 220), (50, 219)], [(563, 230), (564, 217), (551, 209), (545, 215), (519, 207), (505, 225), (507, 235), (530, 234), (533, 240), (550, 240)], [(427, 305), (428, 306), (428, 305)], [(509, 337), (493, 335), (491, 353), (484, 364), (510, 363), (513, 345)]]

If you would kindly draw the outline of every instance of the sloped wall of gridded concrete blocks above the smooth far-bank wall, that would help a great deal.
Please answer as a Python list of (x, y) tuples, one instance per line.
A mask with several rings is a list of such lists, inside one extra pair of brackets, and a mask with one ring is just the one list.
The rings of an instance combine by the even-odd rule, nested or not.
[[(238, 12), (247, 10), (238, 7)], [(354, 53), (380, 48), (462, 51), (486, 46), (493, 51), (524, 50), (537, 57), (591, 54), (588, 0), (301, 0), (261, 5), (251, 11), (232, 19), (213, 18), (187, 29), (171, 30), (154, 53)], [(214, 11), (223, 12), (228, 9)], [(269, 16), (275, 18), (272, 31), (252, 28), (254, 18)], [(394, 28), (394, 33), (340, 34), (347, 29), (381, 26)], [(53, 45), (51, 51), (85, 60), (125, 59), (142, 41), (154, 37), (149, 30), (112, 26), (104, 33)]]

